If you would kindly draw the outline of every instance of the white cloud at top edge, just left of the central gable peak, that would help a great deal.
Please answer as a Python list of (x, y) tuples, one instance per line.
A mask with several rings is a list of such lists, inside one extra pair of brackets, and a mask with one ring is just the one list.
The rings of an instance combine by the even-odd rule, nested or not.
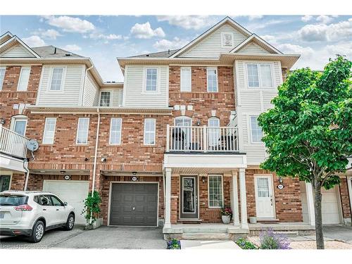
[(158, 22), (168, 21), (170, 25), (183, 27), (186, 30), (200, 30), (216, 23), (209, 15), (158, 15)]

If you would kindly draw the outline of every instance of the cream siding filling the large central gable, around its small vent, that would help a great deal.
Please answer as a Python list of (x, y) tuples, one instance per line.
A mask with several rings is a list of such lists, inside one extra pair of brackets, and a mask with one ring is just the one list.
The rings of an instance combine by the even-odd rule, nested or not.
[[(222, 47), (221, 46), (221, 33), (230, 32), (233, 34), (234, 46)], [(208, 35), (205, 39), (201, 40), (198, 44), (193, 46), (189, 51), (181, 54), (179, 57), (198, 57), (198, 58), (218, 58), (221, 52), (229, 52), (234, 49), (235, 46), (239, 45), (244, 41), (246, 37), (241, 34), (234, 27), (225, 24), (222, 25), (218, 30)]]

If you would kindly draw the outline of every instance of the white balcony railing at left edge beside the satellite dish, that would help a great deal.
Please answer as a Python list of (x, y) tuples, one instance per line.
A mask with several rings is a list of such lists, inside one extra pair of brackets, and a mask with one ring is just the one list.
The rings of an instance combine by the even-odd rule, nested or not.
[(26, 158), (29, 140), (21, 134), (0, 126), (0, 152)]

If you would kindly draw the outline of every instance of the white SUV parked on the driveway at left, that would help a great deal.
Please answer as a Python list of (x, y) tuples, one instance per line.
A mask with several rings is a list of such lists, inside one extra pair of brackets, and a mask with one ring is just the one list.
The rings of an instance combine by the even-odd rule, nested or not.
[(0, 235), (25, 235), (42, 240), (44, 232), (56, 227), (72, 230), (75, 208), (58, 196), (44, 191), (3, 191), (0, 193)]

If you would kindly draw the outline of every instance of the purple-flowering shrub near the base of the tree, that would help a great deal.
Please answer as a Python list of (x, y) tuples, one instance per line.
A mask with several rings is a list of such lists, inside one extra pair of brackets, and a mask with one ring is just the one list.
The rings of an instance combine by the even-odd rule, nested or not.
[(275, 234), (272, 229), (260, 232), (260, 249), (291, 249), (283, 234)]

